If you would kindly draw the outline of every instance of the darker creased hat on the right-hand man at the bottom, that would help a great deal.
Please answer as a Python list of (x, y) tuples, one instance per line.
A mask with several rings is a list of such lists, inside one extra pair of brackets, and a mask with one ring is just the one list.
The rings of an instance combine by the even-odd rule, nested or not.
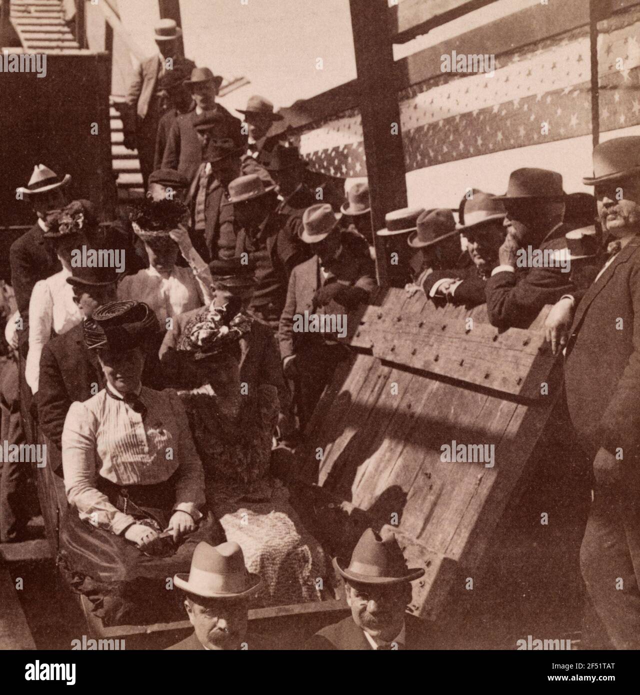
[(347, 582), (358, 584), (401, 584), (413, 582), (425, 573), (424, 569), (408, 569), (402, 550), (393, 533), (384, 537), (368, 528), (360, 537), (349, 566), (334, 557), (334, 567)]

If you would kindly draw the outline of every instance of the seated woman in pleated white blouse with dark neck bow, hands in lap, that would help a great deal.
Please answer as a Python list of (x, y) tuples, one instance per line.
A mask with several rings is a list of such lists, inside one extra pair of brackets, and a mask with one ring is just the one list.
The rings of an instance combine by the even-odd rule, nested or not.
[[(109, 302), (85, 320), (106, 388), (69, 408), (62, 436), (69, 512), (60, 566), (109, 624), (179, 616), (166, 580), (213, 536), (204, 475), (174, 391), (142, 386), (142, 346), (158, 329), (146, 304)], [(181, 569), (178, 569), (181, 568)]]

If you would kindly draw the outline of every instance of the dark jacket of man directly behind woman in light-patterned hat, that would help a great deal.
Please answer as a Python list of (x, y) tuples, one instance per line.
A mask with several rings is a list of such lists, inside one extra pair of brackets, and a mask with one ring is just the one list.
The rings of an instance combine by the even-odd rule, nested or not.
[[(166, 332), (160, 347), (159, 357), (164, 373), (174, 386), (181, 386), (180, 361), (175, 352), (178, 341), (187, 323), (201, 311), (202, 308), (193, 309), (177, 316), (173, 328)], [(281, 410), (290, 402), (291, 396), (282, 375), (275, 338), (271, 329), (258, 319), (254, 319), (249, 334), (240, 338), (240, 381), (247, 382), (249, 389), (252, 385), (260, 384), (275, 386)]]

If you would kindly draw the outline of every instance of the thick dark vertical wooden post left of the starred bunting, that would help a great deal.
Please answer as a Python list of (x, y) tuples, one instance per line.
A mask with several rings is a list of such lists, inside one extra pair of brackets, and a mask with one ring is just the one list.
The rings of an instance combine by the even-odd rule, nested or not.
[[(350, 0), (350, 8), (371, 215), (377, 230), (384, 227), (386, 213), (407, 206), (388, 1)], [(388, 259), (377, 236), (375, 246), (378, 282), (388, 286)]]

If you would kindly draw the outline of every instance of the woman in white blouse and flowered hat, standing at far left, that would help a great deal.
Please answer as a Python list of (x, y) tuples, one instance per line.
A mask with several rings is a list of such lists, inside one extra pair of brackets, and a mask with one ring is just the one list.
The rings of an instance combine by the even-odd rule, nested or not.
[(33, 393), (38, 391), (42, 348), (51, 340), (51, 334), (66, 333), (83, 318), (67, 278), (72, 275), (72, 251), (87, 244), (85, 233), (94, 227), (97, 227), (97, 219), (92, 204), (88, 200), (74, 200), (43, 234), (54, 244), (63, 269), (36, 282), (31, 292), (25, 377)]

